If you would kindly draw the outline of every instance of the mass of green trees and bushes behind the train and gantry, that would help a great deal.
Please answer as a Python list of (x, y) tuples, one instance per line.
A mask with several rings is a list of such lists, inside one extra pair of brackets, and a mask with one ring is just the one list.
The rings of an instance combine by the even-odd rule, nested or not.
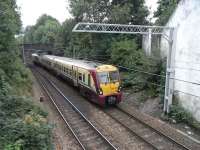
[(161, 73), (160, 68), (157, 67), (160, 61), (148, 59), (142, 49), (141, 36), (71, 33), (77, 22), (148, 25), (146, 18), (149, 12), (144, 3), (144, 0), (113, 0), (112, 2), (109, 0), (71, 0), (71, 13), (74, 20), (66, 20), (63, 29), (67, 32), (58, 34), (58, 37), (68, 39), (60, 44), (66, 47), (65, 54), (69, 57), (76, 56), (128, 67), (130, 70), (121, 70), (124, 72), (123, 86), (133, 87), (135, 91), (153, 89), (153, 95), (155, 95), (159, 89), (149, 81), (160, 84), (161, 79), (136, 71)]

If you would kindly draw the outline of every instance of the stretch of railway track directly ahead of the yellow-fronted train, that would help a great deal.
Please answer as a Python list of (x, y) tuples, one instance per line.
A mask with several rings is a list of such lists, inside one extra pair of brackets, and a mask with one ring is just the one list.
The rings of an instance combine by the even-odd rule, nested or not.
[(134, 135), (138, 136), (141, 140), (154, 147), (154, 149), (191, 150), (119, 107), (107, 109), (105, 113), (131, 131)]

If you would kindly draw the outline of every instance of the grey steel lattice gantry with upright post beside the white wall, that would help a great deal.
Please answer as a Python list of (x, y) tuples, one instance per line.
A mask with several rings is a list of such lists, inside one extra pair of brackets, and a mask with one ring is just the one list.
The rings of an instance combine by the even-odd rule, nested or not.
[(140, 34), (148, 37), (148, 51), (151, 52), (152, 35), (160, 35), (167, 40), (169, 49), (167, 55), (167, 69), (165, 81), (164, 111), (169, 113), (174, 93), (174, 58), (176, 50), (177, 29), (164, 26), (102, 24), (102, 23), (78, 23), (72, 32), (86, 33), (110, 33), (110, 34)]

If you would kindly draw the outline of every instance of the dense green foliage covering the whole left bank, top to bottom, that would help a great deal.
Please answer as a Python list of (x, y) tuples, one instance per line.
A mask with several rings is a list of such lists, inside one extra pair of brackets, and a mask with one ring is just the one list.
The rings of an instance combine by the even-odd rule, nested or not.
[(25, 96), (31, 76), (21, 59), (16, 35), (21, 21), (15, 0), (0, 0), (0, 149), (50, 149), (46, 114)]

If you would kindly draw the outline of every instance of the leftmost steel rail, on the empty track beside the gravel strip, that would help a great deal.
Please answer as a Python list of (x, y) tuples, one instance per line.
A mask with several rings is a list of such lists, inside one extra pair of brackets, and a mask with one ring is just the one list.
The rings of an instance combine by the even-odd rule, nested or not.
[[(35, 74), (33, 70), (32, 70), (32, 72), (33, 72), (33, 74)], [(68, 121), (65, 119), (63, 113), (60, 111), (60, 109), (59, 109), (58, 105), (56, 104), (55, 100), (53, 99), (53, 97), (51, 96), (51, 94), (49, 93), (49, 91), (47, 90), (46, 84), (44, 82), (42, 82), (42, 80), (39, 79), (39, 77), (36, 74), (35, 74), (35, 77), (38, 80), (39, 84), (42, 86), (43, 90), (46, 92), (46, 94), (50, 98), (50, 100), (53, 103), (53, 105), (56, 107), (56, 110), (60, 114), (61, 118), (63, 119), (63, 121), (65, 122), (65, 124), (67, 125), (67, 127), (69, 128), (69, 130), (71, 131), (71, 133), (73, 134), (73, 136), (75, 137), (75, 139), (77, 140), (77, 142), (79, 143), (79, 145), (81, 146), (81, 148), (83, 150), (86, 150), (86, 148), (83, 146), (83, 144), (81, 143), (80, 139), (78, 138), (78, 136), (76, 135), (76, 133), (74, 132), (74, 130), (72, 129), (72, 127), (70, 126), (70, 124), (68, 123)]]

